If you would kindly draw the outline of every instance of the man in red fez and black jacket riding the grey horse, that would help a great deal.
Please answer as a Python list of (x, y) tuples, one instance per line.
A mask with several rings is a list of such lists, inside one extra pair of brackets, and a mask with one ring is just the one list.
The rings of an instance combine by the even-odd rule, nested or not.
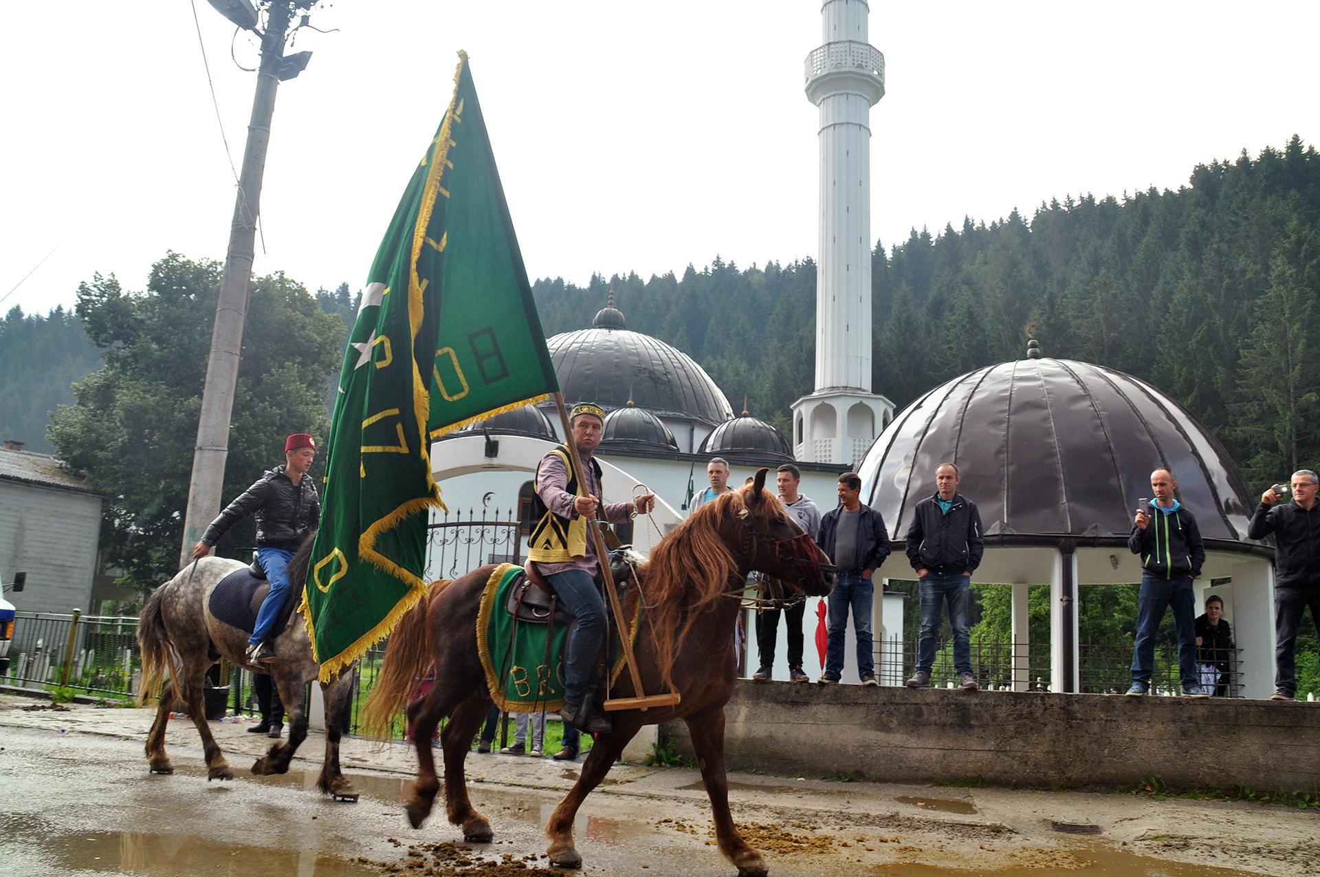
[(304, 475), (317, 456), (317, 444), (305, 432), (296, 432), (284, 441), (282, 466), (267, 470), (242, 497), (235, 499), (211, 522), (202, 540), (193, 548), (194, 557), (206, 556), (220, 536), (235, 523), (256, 515), (256, 557), (271, 582), (271, 593), (256, 615), (256, 630), (248, 639), (248, 663), (273, 663), (276, 654), (265, 646), (284, 601), (289, 596), (289, 573), (285, 567), (293, 552), (321, 522), (321, 498), (312, 478)]

